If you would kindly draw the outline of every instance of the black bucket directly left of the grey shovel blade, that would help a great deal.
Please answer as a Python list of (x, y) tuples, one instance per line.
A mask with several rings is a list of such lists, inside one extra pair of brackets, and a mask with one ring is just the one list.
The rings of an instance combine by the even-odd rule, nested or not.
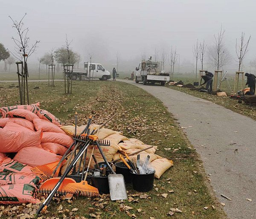
[(109, 194), (108, 175), (111, 171), (107, 171), (107, 176), (93, 176), (93, 172), (96, 170), (89, 171), (92, 186), (99, 190), (99, 193)]

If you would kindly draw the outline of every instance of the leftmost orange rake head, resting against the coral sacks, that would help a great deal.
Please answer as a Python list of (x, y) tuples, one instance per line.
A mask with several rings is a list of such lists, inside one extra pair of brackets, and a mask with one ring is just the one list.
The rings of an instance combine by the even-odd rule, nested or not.
[[(53, 177), (57, 177), (61, 166), (65, 163), (66, 161), (64, 160), (61, 165), (58, 167), (57, 171), (55, 172)], [(57, 167), (59, 161), (55, 161), (52, 163), (48, 163), (45, 165), (41, 165), (41, 166), (37, 166), (31, 169), (32, 172), (34, 172), (37, 176), (40, 177), (40, 179), (42, 180), (47, 180), (50, 178), (50, 176), (52, 176), (53, 171), (55, 170), (55, 168)]]

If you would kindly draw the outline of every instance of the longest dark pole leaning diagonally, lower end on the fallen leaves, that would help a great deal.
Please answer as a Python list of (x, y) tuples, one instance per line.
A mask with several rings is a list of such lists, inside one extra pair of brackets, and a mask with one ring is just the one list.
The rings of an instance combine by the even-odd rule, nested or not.
[[(117, 114), (117, 113), (116, 113)], [(110, 117), (106, 122), (104, 122), (100, 127), (102, 128), (104, 125), (107, 124), (107, 122), (109, 122), (111, 119), (113, 119), (114, 116), (116, 116), (116, 114), (114, 114), (112, 117)], [(92, 134), (95, 132), (95, 130), (93, 130)], [(65, 179), (65, 177), (67, 176), (67, 174), (72, 170), (73, 166), (76, 165), (76, 162), (79, 160), (79, 158), (81, 157), (81, 155), (84, 153), (85, 150), (87, 150), (88, 146), (91, 143), (91, 139), (89, 139), (83, 146), (83, 148), (79, 151), (79, 153), (77, 154), (76, 159), (73, 159), (71, 164), (68, 166), (68, 168), (64, 171), (63, 175), (60, 177), (58, 183), (55, 185), (55, 187), (53, 188), (52, 192), (49, 194), (49, 196), (47, 197), (47, 199), (45, 199), (45, 201), (40, 205), (40, 207), (38, 208), (36, 215), (38, 215), (41, 210), (47, 209), (47, 206), (49, 205), (49, 203), (51, 202), (54, 194), (56, 193), (56, 191), (58, 191), (59, 186), (61, 185), (61, 183), (63, 182), (63, 180)], [(48, 179), (48, 180), (52, 180), (52, 179)], [(126, 192), (126, 190), (125, 190)], [(126, 194), (127, 196), (127, 194)]]

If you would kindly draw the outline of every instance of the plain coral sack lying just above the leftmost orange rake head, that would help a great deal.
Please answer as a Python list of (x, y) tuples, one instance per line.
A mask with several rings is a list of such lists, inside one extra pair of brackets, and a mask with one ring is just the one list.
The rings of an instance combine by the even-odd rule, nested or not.
[(59, 161), (61, 159), (61, 156), (52, 154), (51, 152), (45, 151), (41, 148), (28, 147), (22, 148), (13, 159), (17, 162), (35, 167)]

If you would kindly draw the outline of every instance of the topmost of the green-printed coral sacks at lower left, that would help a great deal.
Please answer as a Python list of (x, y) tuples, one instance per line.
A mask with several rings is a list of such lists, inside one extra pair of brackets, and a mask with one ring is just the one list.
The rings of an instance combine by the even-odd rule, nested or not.
[(9, 173), (26, 173), (29, 176), (35, 176), (35, 173), (31, 171), (31, 166), (19, 163), (14, 161), (13, 159), (6, 157), (0, 165), (0, 172), (5, 171)]

